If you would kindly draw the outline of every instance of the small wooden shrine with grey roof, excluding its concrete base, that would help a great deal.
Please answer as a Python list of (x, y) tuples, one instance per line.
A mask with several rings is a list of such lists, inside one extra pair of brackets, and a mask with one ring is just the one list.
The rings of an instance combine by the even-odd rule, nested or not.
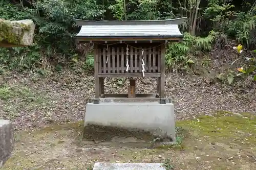
[[(186, 18), (148, 21), (87, 21), (75, 19), (81, 30), (76, 42), (94, 43), (94, 104), (159, 101), (165, 104), (165, 52), (169, 41), (183, 35), (178, 25)], [(129, 77), (128, 94), (105, 94), (104, 78)], [(136, 94), (133, 78), (157, 78), (156, 94)]]

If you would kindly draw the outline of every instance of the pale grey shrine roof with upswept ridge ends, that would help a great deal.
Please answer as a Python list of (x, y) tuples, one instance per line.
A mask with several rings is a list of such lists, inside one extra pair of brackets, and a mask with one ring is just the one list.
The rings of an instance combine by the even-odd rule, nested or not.
[(75, 38), (81, 39), (182, 39), (178, 25), (186, 20), (185, 18), (166, 20), (138, 20), (138, 21), (89, 21), (74, 19), (78, 26), (81, 26)]

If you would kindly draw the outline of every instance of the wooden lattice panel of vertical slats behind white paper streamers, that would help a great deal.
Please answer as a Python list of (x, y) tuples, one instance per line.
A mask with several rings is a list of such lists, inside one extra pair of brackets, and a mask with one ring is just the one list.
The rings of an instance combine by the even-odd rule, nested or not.
[[(125, 73), (127, 59), (129, 64), (127, 72), (141, 72), (142, 49), (144, 50), (145, 72), (160, 72), (161, 47), (157, 45), (152, 43), (151, 46), (143, 44), (128, 46), (129, 55), (126, 55), (126, 44), (111, 45), (108, 50), (106, 50), (106, 45), (98, 45), (99, 74)], [(106, 63), (107, 59), (108, 63)]]

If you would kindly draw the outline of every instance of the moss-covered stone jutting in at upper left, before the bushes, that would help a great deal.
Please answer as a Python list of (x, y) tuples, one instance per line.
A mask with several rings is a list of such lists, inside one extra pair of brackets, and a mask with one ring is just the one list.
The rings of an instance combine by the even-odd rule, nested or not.
[[(27, 33), (27, 37), (24, 37), (25, 33)], [(31, 20), (9, 21), (5, 19), (0, 19), (1, 44), (30, 45), (31, 38), (33, 42), (33, 34), (34, 23)]]

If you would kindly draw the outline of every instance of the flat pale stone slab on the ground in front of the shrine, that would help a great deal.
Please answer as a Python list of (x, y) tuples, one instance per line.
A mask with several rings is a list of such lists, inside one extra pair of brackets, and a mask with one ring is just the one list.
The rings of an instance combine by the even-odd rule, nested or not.
[(162, 163), (101, 163), (96, 162), (93, 170), (165, 170)]

